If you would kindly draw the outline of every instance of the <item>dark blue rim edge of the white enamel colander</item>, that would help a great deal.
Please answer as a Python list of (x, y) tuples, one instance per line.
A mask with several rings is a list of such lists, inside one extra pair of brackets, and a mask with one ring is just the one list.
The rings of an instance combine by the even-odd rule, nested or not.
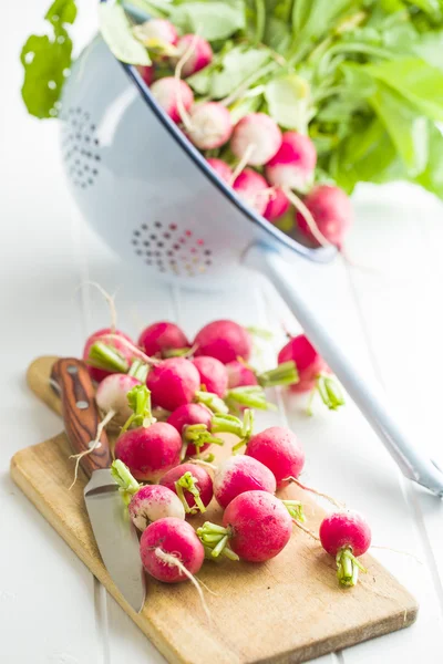
[[(101, 2), (109, 2), (110, 0), (100, 0)], [(112, 1), (112, 0), (111, 0)], [(334, 256), (337, 256), (337, 248), (330, 247), (318, 247), (310, 248), (301, 245), (293, 238), (286, 235), (282, 230), (276, 228), (270, 221), (257, 215), (249, 206), (243, 203), (243, 200), (235, 194), (234, 189), (229, 187), (209, 166), (205, 157), (200, 152), (190, 143), (178, 126), (171, 120), (171, 117), (158, 106), (154, 96), (152, 95), (148, 86), (143, 81), (136, 65), (127, 64), (117, 60), (131, 81), (137, 86), (143, 101), (150, 106), (150, 110), (154, 113), (157, 120), (163, 124), (165, 129), (171, 136), (178, 143), (178, 145), (185, 151), (196, 166), (204, 173), (204, 175), (217, 187), (217, 189), (230, 200), (241, 212), (254, 224), (258, 225), (268, 236), (285, 245), (289, 249), (297, 251), (300, 256), (309, 258), (316, 262), (329, 262)]]

